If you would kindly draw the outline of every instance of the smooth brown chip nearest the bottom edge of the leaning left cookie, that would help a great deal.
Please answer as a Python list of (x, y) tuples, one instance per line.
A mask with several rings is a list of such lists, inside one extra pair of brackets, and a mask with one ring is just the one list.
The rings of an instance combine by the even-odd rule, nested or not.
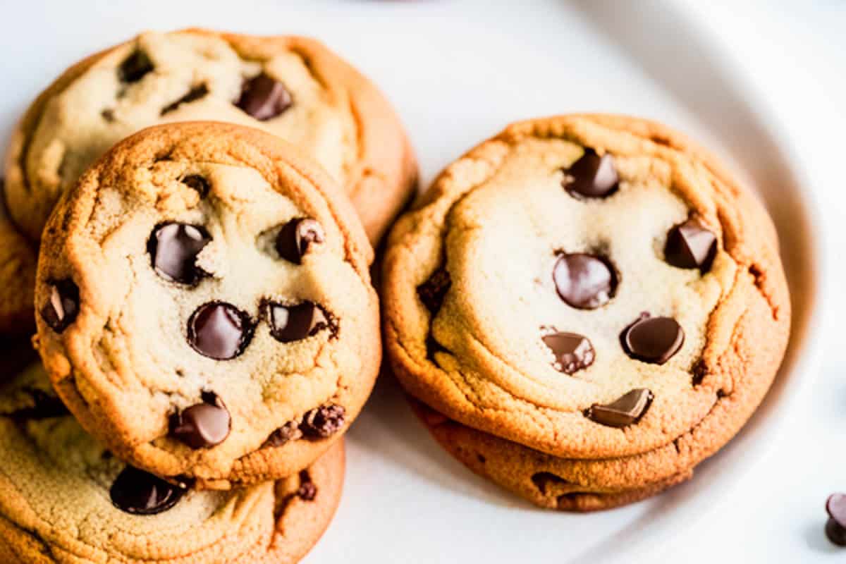
[(174, 413), (170, 434), (193, 449), (209, 448), (226, 440), (232, 419), (220, 397), (203, 392), (203, 402), (192, 405), (182, 413)]

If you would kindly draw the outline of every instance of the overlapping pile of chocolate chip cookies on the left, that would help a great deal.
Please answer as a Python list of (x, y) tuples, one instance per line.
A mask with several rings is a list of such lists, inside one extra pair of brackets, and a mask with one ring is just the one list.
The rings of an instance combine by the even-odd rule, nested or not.
[(145, 34), (39, 96), (5, 176), (0, 329), (41, 363), (4, 367), (0, 561), (299, 561), (415, 189), (387, 101), (316, 41)]

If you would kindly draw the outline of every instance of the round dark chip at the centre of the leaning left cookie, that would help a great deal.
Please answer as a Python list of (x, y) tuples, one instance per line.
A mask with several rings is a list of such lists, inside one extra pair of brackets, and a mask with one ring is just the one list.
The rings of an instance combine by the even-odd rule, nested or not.
[(202, 304), (188, 320), (188, 342), (210, 359), (234, 359), (244, 352), (253, 336), (250, 316), (232, 304)]

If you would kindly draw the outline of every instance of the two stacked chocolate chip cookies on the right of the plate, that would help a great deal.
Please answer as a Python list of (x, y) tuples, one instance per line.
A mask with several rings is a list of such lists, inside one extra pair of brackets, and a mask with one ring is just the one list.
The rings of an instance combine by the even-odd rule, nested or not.
[[(384, 277), (394, 371), (467, 428), (436, 435), (547, 506), (610, 507), (688, 476), (753, 413), (788, 341), (766, 211), (637, 118), (537, 119), (479, 145), (400, 219)], [(547, 496), (535, 474), (567, 488)], [(572, 492), (621, 496), (559, 499)]]

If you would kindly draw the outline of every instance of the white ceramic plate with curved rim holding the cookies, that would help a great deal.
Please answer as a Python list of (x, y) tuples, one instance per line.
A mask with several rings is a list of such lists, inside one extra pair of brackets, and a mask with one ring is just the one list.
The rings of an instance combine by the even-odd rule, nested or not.
[[(91, 6), (93, 4), (87, 4)], [(562, 112), (623, 112), (688, 132), (754, 185), (777, 222), (794, 296), (794, 335), (766, 402), (695, 479), (610, 512), (546, 512), (478, 479), (431, 440), (393, 381), (383, 379), (349, 433), (338, 516), (308, 557), (318, 562), (640, 561), (731, 490), (810, 374), (820, 299), (821, 233), (802, 173), (777, 124), (751, 99), (730, 59), (677, 3), (29, 2), (0, 48), (0, 127), (11, 129), (52, 76), (137, 31), (206, 25), (317, 36), (393, 100), (424, 183), (511, 121)], [(23, 13), (23, 12), (21, 12)], [(41, 41), (30, 42), (37, 34)], [(47, 41), (49, 38), (50, 41)], [(21, 47), (26, 46), (26, 47)], [(10, 89), (9, 85), (14, 85)]]

